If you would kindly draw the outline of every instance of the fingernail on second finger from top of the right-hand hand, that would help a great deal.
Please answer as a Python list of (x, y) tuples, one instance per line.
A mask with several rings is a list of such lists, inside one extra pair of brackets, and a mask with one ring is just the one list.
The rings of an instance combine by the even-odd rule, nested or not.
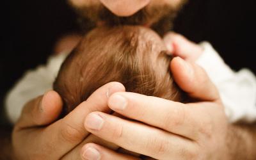
[(90, 129), (100, 130), (100, 129), (102, 129), (104, 120), (97, 114), (90, 114), (87, 116), (84, 124), (86, 125), (86, 127), (90, 128)]

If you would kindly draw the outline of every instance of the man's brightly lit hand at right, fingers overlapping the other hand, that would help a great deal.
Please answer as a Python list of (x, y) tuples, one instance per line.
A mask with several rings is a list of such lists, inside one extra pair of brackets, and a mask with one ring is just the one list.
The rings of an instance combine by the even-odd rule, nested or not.
[[(218, 92), (204, 70), (181, 58), (174, 58), (171, 68), (180, 88), (199, 102), (182, 104), (118, 92), (109, 97), (109, 108), (132, 120), (93, 112), (85, 119), (86, 130), (155, 159), (236, 159), (232, 153), (237, 152), (246, 157), (247, 147), (252, 146), (247, 143), (239, 150), (244, 138), (232, 133), (236, 128), (228, 124)], [(88, 147), (93, 145), (84, 145)]]

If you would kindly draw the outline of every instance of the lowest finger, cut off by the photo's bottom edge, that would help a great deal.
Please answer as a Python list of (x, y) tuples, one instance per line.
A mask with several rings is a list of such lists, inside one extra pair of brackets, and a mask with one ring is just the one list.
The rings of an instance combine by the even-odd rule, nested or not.
[(109, 159), (118, 159), (118, 160), (137, 160), (138, 157), (129, 156), (126, 154), (120, 154), (109, 148), (102, 147), (94, 143), (88, 143), (84, 145), (81, 150), (81, 159), (100, 159), (100, 160), (109, 160)]

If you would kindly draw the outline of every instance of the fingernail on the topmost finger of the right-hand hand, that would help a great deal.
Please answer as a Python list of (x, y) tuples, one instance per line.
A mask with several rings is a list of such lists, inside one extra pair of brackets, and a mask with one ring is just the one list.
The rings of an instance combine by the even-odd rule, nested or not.
[(124, 110), (127, 107), (127, 99), (122, 95), (113, 95), (109, 99), (109, 108), (113, 110)]

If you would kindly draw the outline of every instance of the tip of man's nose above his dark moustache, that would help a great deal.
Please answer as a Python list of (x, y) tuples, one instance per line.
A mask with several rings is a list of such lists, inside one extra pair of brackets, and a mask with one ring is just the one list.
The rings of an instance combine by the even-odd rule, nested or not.
[(138, 12), (151, 0), (100, 0), (112, 13), (121, 17), (128, 17)]

